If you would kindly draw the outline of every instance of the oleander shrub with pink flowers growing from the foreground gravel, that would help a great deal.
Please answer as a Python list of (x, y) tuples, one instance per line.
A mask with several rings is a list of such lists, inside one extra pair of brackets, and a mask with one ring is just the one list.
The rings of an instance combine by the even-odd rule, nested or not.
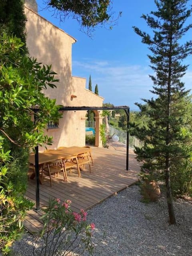
[(34, 245), (35, 256), (82, 255), (85, 251), (93, 255), (95, 225), (86, 221), (87, 212), (73, 212), (70, 204), (70, 200), (50, 199), (48, 206), (42, 208), (44, 227)]

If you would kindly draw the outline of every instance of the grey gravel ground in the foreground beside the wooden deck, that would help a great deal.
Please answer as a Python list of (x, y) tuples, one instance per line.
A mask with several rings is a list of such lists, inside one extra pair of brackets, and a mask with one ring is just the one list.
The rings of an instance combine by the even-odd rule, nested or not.
[[(88, 211), (94, 222), (95, 256), (192, 256), (192, 202), (176, 200), (177, 225), (168, 225), (166, 200), (140, 202), (131, 186)], [(25, 234), (14, 244), (15, 256), (32, 256), (33, 237)], [(87, 255), (87, 254), (86, 254)]]

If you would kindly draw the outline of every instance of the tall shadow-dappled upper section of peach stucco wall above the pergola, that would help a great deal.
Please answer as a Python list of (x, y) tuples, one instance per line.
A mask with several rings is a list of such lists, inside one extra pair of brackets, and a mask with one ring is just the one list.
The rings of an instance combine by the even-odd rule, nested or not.
[(48, 88), (46, 95), (56, 98), (57, 104), (63, 103), (63, 98), (69, 94), (72, 87), (72, 44), (74, 38), (58, 29), (36, 12), (25, 8), (27, 22), (27, 46), (32, 57), (37, 58), (43, 64), (52, 65), (58, 75), (60, 83), (56, 83), (57, 89)]

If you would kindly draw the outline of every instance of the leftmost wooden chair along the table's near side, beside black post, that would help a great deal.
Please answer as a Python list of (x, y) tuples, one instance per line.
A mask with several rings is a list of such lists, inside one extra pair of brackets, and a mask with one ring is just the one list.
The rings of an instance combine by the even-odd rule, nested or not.
[(41, 177), (43, 176), (43, 173), (46, 173), (50, 178), (50, 184), (52, 186), (51, 176), (54, 174), (56, 177), (59, 172), (63, 173), (63, 179), (66, 181), (66, 174), (62, 160), (46, 163), (46, 166), (42, 168)]

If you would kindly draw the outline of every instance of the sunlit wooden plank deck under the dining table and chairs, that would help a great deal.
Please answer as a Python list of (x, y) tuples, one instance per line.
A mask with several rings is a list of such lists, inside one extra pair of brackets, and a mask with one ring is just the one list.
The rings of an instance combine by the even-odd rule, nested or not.
[[(99, 204), (116, 192), (123, 190), (138, 180), (140, 166), (135, 155), (130, 151), (129, 169), (126, 171), (126, 152), (119, 147), (111, 149), (92, 147), (94, 166), (89, 172), (88, 166), (78, 178), (77, 171), (68, 173), (68, 181), (62, 181), (62, 174), (52, 179), (52, 187), (48, 178), (40, 185), (40, 207), (47, 205), (50, 197), (72, 201), (71, 209), (79, 212), (88, 210)], [(35, 202), (35, 180), (29, 180), (26, 197)], [(32, 233), (38, 233), (42, 227), (40, 216), (42, 212), (30, 210), (24, 222), (25, 227)]]

